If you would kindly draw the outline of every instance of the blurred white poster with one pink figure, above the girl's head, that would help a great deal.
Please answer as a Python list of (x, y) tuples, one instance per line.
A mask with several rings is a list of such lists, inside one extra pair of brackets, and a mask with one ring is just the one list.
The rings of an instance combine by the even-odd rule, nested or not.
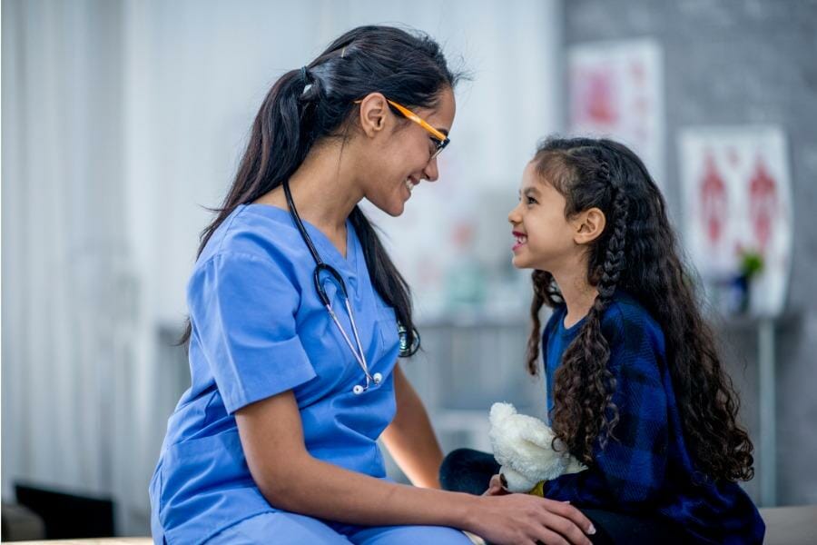
[(652, 40), (575, 45), (567, 54), (569, 131), (631, 148), (664, 180), (664, 74)]

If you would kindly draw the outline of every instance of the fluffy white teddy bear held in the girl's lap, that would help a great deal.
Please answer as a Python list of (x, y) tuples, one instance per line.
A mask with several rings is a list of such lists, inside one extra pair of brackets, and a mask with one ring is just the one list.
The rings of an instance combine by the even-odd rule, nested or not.
[(568, 452), (553, 450), (554, 434), (545, 422), (518, 414), (510, 403), (494, 403), (490, 421), (488, 436), (507, 490), (541, 496), (541, 482), (587, 469)]

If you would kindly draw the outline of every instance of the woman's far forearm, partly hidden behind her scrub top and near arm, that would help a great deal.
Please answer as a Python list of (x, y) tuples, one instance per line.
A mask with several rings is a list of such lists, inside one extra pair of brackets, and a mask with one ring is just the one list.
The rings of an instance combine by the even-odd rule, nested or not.
[(394, 390), (397, 414), (380, 437), (414, 485), (438, 489), (442, 451), (428, 412), (399, 365), (394, 368)]

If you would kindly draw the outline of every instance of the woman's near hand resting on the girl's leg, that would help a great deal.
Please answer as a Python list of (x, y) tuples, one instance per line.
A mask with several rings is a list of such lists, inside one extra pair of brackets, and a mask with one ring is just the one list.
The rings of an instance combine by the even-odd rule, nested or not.
[(491, 543), (590, 545), (586, 534), (596, 533), (581, 511), (562, 501), (528, 494), (485, 495), (478, 500), (480, 507), (467, 530)]

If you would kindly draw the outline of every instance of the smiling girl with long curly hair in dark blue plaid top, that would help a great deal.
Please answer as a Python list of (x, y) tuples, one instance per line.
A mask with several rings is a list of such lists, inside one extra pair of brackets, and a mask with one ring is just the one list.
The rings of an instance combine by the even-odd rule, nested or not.
[[(508, 221), (514, 265), (534, 269), (528, 371), (541, 339), (555, 444), (588, 466), (546, 482), (545, 497), (590, 508), (615, 541), (762, 542), (735, 482), (753, 477), (752, 443), (644, 163), (609, 140), (548, 140)], [(540, 338), (543, 304), (554, 312)], [(496, 470), (475, 458), (449, 455), (443, 485), (458, 488), (466, 465)]]

